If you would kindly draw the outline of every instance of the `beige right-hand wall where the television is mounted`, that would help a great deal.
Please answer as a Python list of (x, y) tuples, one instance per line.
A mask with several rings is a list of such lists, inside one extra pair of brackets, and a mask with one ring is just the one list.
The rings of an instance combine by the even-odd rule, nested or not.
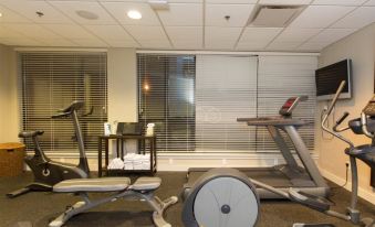
[[(347, 119), (360, 116), (362, 108), (374, 95), (374, 54), (375, 54), (375, 24), (372, 24), (341, 41), (325, 47), (319, 57), (319, 66), (325, 66), (344, 58), (352, 58), (353, 65), (353, 98), (340, 100), (336, 105), (335, 117), (338, 118), (344, 111), (351, 116)], [(327, 102), (319, 102), (316, 122)], [(333, 120), (331, 119), (331, 123)], [(327, 134), (322, 138), (320, 126), (316, 125), (315, 149), (320, 153), (319, 164), (324, 175), (337, 184), (345, 180), (345, 162), (348, 161), (344, 149), (346, 144), (337, 139), (331, 139)], [(355, 136), (347, 131), (344, 133), (355, 144), (368, 143), (369, 139), (364, 136)], [(360, 163), (360, 194), (375, 203), (373, 188), (369, 186), (369, 169)]]

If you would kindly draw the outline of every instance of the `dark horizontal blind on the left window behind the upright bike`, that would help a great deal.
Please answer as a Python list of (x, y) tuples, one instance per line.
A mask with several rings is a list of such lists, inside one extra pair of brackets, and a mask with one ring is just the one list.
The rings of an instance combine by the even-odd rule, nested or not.
[[(97, 136), (107, 121), (106, 53), (20, 53), (22, 77), (22, 130), (43, 130), (44, 151), (75, 153), (77, 145), (71, 118), (51, 119), (73, 100), (80, 110), (86, 152), (97, 151)], [(31, 149), (32, 147), (28, 147)]]

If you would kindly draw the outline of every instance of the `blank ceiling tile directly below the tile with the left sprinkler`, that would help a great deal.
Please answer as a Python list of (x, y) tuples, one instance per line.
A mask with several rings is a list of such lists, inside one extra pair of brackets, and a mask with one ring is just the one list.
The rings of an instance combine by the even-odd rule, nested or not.
[(67, 39), (91, 39), (93, 34), (80, 25), (73, 24), (44, 24), (45, 28)]

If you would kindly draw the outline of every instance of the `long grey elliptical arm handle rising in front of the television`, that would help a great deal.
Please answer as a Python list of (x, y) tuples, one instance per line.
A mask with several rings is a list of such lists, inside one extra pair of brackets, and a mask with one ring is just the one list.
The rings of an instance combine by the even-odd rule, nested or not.
[[(330, 106), (329, 106), (329, 109), (326, 110), (326, 112), (324, 112), (324, 117), (323, 117), (321, 127), (322, 127), (322, 129), (323, 129), (324, 131), (329, 132), (330, 134), (332, 134), (332, 136), (338, 138), (340, 140), (344, 141), (344, 142), (346, 142), (346, 143), (351, 147), (351, 149), (353, 149), (353, 148), (354, 148), (354, 144), (353, 144), (348, 139), (344, 138), (343, 136), (338, 134), (336, 131), (333, 131), (333, 130), (331, 130), (331, 129), (329, 129), (329, 128), (326, 127), (326, 121), (327, 121), (327, 119), (329, 119), (329, 116), (332, 114), (332, 110), (333, 110), (334, 106), (336, 105), (337, 99), (338, 99), (338, 97), (340, 97), (340, 94), (341, 94), (341, 91), (344, 89), (345, 84), (346, 84), (345, 80), (342, 80), (342, 82), (341, 82), (341, 84), (340, 84), (340, 86), (338, 86), (338, 88), (337, 88), (337, 90), (336, 90), (336, 94), (334, 95), (334, 97), (333, 97), (333, 99), (332, 99), (332, 101), (331, 101), (331, 104), (330, 104)], [(345, 114), (344, 114), (343, 117), (345, 117)], [(343, 118), (343, 117), (342, 117), (337, 122), (341, 123), (347, 116), (346, 116), (345, 118)], [(340, 125), (340, 123), (338, 123), (338, 125)], [(337, 123), (336, 123), (336, 125), (337, 125)], [(338, 125), (337, 125), (337, 126), (338, 126)], [(338, 130), (337, 130), (337, 131), (338, 131)], [(344, 130), (342, 130), (342, 131), (344, 131)]]

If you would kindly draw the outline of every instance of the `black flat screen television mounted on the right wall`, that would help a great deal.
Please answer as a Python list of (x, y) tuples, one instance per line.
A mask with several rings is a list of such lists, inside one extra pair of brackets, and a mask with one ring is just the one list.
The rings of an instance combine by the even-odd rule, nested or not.
[(317, 100), (332, 99), (340, 83), (345, 80), (345, 87), (340, 98), (352, 98), (352, 61), (344, 60), (315, 71)]

